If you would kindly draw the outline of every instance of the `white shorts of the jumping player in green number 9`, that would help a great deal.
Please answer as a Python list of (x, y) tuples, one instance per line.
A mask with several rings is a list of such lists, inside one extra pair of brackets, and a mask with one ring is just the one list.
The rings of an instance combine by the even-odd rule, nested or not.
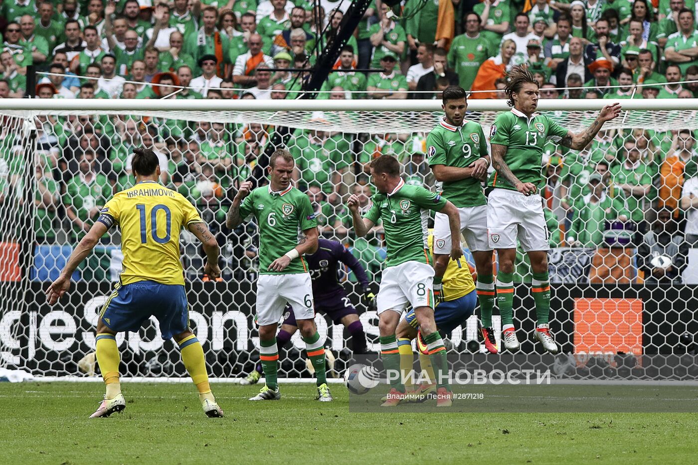
[[(459, 207), (458, 212), (461, 214), (461, 233), (468, 249), (471, 252), (492, 250), (487, 240), (487, 205)], [(434, 253), (451, 253), (451, 228), (445, 213), (434, 216)]]

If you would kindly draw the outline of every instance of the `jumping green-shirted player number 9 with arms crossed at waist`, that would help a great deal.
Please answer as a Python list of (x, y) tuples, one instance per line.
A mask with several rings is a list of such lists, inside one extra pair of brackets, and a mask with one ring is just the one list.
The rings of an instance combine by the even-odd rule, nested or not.
[[(426, 138), (426, 156), (434, 177), (443, 182), (441, 195), (458, 207), (461, 232), (475, 260), (477, 298), (480, 300), (482, 337), (490, 353), (497, 353), (492, 329), (494, 281), (492, 247), (487, 240), (487, 198), (481, 182), (487, 179), (489, 155), (482, 126), (464, 119), (468, 110), (466, 91), (450, 86), (443, 91), (445, 112), (440, 123)], [(434, 297), (442, 296), (443, 274), (449, 263), (451, 232), (448, 217), (437, 213), (434, 218)]]

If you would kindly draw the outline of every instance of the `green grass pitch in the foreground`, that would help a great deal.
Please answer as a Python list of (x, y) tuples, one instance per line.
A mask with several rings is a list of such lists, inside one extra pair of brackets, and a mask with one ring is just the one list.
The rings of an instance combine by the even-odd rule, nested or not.
[(282, 384), (212, 383), (225, 418), (203, 415), (189, 384), (122, 383), (126, 411), (89, 420), (98, 383), (1, 383), (0, 459), (8, 464), (689, 464), (691, 413), (350, 413)]

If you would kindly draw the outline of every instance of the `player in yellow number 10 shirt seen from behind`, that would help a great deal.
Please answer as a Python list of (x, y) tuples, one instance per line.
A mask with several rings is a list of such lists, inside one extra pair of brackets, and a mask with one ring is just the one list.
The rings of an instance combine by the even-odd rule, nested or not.
[(221, 275), (218, 244), (206, 224), (183, 195), (158, 184), (158, 157), (150, 149), (133, 151), (136, 184), (107, 202), (99, 219), (77, 244), (59, 278), (47, 290), (55, 304), (70, 289), (70, 275), (86, 258), (107, 230), (121, 229), (123, 270), (114, 292), (104, 304), (97, 323), (96, 355), (106, 385), (106, 394), (90, 418), (108, 417), (126, 408), (119, 385), (119, 349), (116, 335), (138, 331), (155, 316), (163, 339), (174, 338), (184, 366), (199, 392), (204, 413), (222, 417), (206, 371), (204, 351), (189, 327), (184, 270), (179, 261), (179, 232), (187, 228), (203, 243), (207, 256), (205, 273), (211, 279)]

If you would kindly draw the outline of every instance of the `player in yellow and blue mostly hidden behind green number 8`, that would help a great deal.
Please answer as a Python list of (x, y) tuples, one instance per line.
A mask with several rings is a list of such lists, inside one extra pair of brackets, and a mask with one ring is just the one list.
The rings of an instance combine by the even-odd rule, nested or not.
[[(433, 230), (429, 230), (429, 250), (433, 253)], [(446, 271), (443, 274), (443, 301), (437, 302), (434, 308), (434, 321), (437, 330), (452, 332), (466, 322), (468, 317), (475, 313), (477, 307), (477, 293), (473, 275), (470, 274), (470, 267), (465, 260), (449, 260)], [(419, 323), (415, 318), (415, 310), (410, 309), (400, 321), (395, 332), (397, 336), (397, 346), (400, 353), (400, 368), (403, 374), (407, 374), (412, 369), (413, 353), (412, 340), (417, 338), (417, 348), (419, 349), (419, 364), (422, 371), (426, 371), (431, 378), (431, 383), (425, 383), (417, 388), (406, 385), (408, 399), (426, 400), (426, 394), (436, 392), (436, 378), (433, 376), (431, 362), (429, 361), (429, 350), (422, 341), (419, 333)], [(411, 395), (410, 395), (411, 394)], [(416, 395), (415, 395), (416, 394)], [(437, 406), (450, 406), (450, 401), (440, 401)]]

